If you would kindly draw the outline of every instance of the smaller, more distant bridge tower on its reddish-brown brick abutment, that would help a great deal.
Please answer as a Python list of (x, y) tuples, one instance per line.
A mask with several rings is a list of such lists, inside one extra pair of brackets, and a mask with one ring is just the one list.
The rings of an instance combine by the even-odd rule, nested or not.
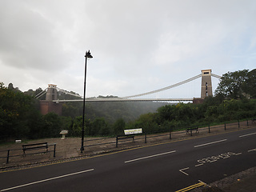
[(53, 102), (53, 100), (57, 100), (57, 85), (48, 84), (48, 89), (46, 92), (46, 100), (40, 101), (40, 110), (41, 114), (45, 115), (50, 112), (54, 112), (55, 114), (62, 115), (62, 104)]

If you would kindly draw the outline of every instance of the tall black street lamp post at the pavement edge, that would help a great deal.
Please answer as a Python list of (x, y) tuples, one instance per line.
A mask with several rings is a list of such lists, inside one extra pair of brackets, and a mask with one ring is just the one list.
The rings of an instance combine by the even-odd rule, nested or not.
[(86, 62), (85, 62), (85, 82), (83, 86), (83, 106), (82, 106), (82, 143), (81, 143), (81, 153), (84, 149), (83, 142), (85, 137), (85, 105), (86, 105), (86, 66), (87, 66), (87, 58), (93, 58), (90, 54), (90, 50), (86, 51)]

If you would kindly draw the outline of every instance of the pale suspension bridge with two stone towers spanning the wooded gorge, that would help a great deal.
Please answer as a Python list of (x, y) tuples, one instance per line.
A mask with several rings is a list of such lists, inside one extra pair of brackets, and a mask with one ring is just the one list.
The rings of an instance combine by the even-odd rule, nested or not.
[[(162, 92), (164, 90), (170, 90), (177, 86), (182, 86), (183, 84), (187, 82), (192, 82), (197, 78), (202, 78), (202, 89), (201, 89), (201, 99), (213, 95), (212, 93), (212, 83), (211, 83), (211, 77), (214, 78), (222, 78), (221, 76), (217, 74), (211, 73), (211, 70), (202, 70), (201, 74), (198, 74), (192, 78), (188, 78), (185, 81), (178, 82), (171, 86), (166, 86), (158, 90), (152, 90), (146, 93), (142, 94), (134, 94), (126, 97), (114, 97), (114, 98), (86, 98), (86, 102), (192, 102), (194, 101), (194, 98), (139, 98), (142, 96), (147, 96), (150, 94), (156, 94), (159, 92)], [(77, 97), (78, 99), (72, 99), (72, 100), (59, 100), (58, 99), (58, 92), (62, 92), (64, 94), (70, 94), (72, 96)], [(50, 102), (82, 102), (83, 98), (79, 94), (71, 94), (67, 92), (66, 90), (62, 90), (58, 88), (56, 85), (49, 84), (48, 87), (45, 90), (42, 90), (41, 93), (36, 95), (36, 98), (42, 97), (43, 94), (46, 94), (46, 101)]]

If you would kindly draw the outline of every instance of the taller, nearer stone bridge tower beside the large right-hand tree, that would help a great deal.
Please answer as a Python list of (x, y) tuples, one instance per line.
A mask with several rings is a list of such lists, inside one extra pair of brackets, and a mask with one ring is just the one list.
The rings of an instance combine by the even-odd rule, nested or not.
[(201, 71), (202, 71), (201, 98), (204, 99), (207, 96), (213, 95), (213, 88), (211, 85), (211, 70), (201, 70)]

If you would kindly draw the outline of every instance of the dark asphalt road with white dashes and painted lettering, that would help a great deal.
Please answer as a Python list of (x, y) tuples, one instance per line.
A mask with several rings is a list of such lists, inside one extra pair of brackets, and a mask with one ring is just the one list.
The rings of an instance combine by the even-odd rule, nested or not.
[(256, 129), (0, 173), (0, 191), (185, 191), (256, 166)]

